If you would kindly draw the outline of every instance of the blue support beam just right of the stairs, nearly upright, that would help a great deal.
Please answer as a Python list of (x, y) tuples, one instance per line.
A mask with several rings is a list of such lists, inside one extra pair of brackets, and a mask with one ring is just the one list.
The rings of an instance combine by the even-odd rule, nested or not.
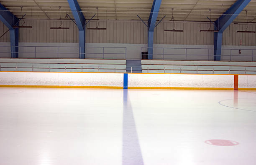
[(148, 60), (153, 59), (154, 28), (162, 0), (154, 0), (148, 18)]

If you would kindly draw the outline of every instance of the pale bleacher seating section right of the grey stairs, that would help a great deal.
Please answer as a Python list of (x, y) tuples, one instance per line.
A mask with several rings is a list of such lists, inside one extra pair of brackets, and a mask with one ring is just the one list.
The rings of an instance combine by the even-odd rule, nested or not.
[(143, 73), (256, 74), (256, 62), (141, 60)]

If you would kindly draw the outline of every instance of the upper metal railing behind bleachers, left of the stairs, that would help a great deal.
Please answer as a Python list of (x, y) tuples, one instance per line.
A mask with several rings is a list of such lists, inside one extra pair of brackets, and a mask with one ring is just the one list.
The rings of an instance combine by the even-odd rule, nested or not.
[[(15, 48), (18, 47), (18, 52)], [(126, 47), (0, 46), (0, 57), (126, 59)]]

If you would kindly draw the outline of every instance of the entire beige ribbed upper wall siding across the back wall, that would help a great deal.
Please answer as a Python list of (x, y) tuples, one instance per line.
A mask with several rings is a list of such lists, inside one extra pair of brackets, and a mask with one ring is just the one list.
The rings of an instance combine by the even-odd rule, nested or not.
[[(20, 28), (20, 42), (61, 42), (77, 43), (79, 34), (77, 26), (71, 20), (62, 20), (62, 27), (70, 30), (51, 30), (51, 27), (59, 27), (60, 20), (26, 20), (26, 24), (33, 28)], [(107, 30), (86, 30), (87, 43), (130, 43), (146, 44), (148, 40), (147, 27), (141, 21), (109, 21), (100, 20), (99, 28)], [(178, 45), (213, 45), (214, 33), (200, 32), (207, 30), (210, 23), (178, 22), (174, 24), (176, 30), (184, 32), (164, 32), (165, 29), (173, 29), (172, 22), (161, 22), (154, 30), (154, 44), (178, 44)], [(256, 33), (237, 33), (237, 30), (245, 30), (246, 24), (232, 23), (223, 32), (223, 45), (256, 46)], [(86, 28), (97, 27), (97, 20), (92, 20)], [(211, 26), (213, 30), (213, 25)], [(0, 35), (8, 28), (0, 22)], [(256, 24), (249, 25), (247, 30), (256, 30)], [(0, 42), (10, 42), (9, 32), (0, 38)]]

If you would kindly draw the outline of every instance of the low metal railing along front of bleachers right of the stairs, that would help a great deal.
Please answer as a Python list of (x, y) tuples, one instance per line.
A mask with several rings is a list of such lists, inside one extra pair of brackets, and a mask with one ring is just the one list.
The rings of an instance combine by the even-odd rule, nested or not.
[[(244, 74), (250, 75), (256, 73), (255, 70), (248, 69), (244, 67), (244, 69), (240, 68), (228, 68), (228, 69), (218, 69), (218, 68), (203, 68), (203, 67), (196, 67), (196, 68), (189, 68), (189, 67), (176, 67), (176, 68), (167, 68), (161, 67), (147, 67), (146, 69), (142, 69), (142, 71), (146, 71), (147, 73), (196, 73), (196, 74)], [(222, 73), (221, 73), (222, 72)]]

